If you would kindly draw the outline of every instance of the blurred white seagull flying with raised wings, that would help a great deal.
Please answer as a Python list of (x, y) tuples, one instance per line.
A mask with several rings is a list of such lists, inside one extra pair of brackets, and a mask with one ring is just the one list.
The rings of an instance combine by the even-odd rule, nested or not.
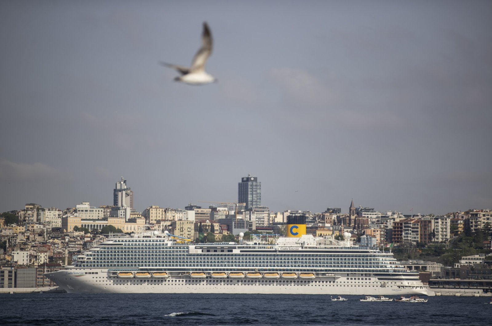
[(176, 69), (182, 76), (176, 77), (175, 81), (181, 81), (191, 85), (202, 85), (217, 81), (215, 77), (205, 72), (205, 63), (212, 54), (212, 33), (206, 22), (203, 23), (202, 47), (193, 57), (191, 67), (178, 66), (176, 64), (160, 62), (165, 67)]

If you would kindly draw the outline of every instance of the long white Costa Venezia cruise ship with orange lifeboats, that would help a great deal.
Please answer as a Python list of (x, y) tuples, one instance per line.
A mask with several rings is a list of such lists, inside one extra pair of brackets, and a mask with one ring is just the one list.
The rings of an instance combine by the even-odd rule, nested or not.
[(68, 293), (434, 295), (391, 252), (352, 245), (350, 233), (337, 241), (296, 228), (274, 243), (192, 244), (167, 231), (110, 237), (44, 275)]

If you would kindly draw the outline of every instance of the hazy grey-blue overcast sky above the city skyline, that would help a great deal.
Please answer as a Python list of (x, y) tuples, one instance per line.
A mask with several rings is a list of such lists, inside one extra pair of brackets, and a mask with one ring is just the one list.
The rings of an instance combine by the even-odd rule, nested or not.
[[(207, 71), (189, 86), (202, 23)], [(492, 208), (492, 1), (2, 1), (0, 212)]]

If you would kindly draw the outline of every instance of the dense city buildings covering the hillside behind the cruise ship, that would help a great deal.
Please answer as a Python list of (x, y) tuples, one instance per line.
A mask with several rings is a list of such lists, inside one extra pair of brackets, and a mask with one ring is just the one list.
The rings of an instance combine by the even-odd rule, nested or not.
[[(133, 191), (127, 188), (123, 178), (116, 183), (113, 199), (115, 206), (94, 207), (83, 201), (64, 210), (29, 203), (19, 211), (12, 211), (18, 217), (18, 223), (6, 223), (5, 218), (0, 218), (0, 287), (53, 285), (42, 277), (43, 272), (61, 268), (65, 261), (69, 264), (83, 251), (103, 242), (105, 236), (99, 233), (108, 225), (127, 234), (150, 228), (168, 231), (189, 241), (220, 241), (223, 237), (231, 241), (240, 232), (248, 231), (274, 237), (283, 235), (287, 217), (302, 216), (306, 219), (307, 233), (336, 237), (350, 232), (354, 242), (369, 247), (391, 243), (446, 244), (460, 232), (492, 230), (492, 211), (488, 209), (452, 212), (444, 216), (404, 216), (398, 212), (381, 213), (374, 208), (356, 206), (352, 200), (344, 212), (330, 207), (322, 213), (272, 212), (262, 206), (261, 183), (251, 175), (238, 183), (238, 203), (216, 202), (217, 206), (207, 208), (192, 203), (184, 208), (150, 205), (139, 213), (132, 209)], [(483, 245), (484, 249), (490, 249), (491, 239), (484, 239)], [(477, 274), (472, 271), (472, 266), (484, 265), (483, 260), (482, 256), (463, 257), (455, 267), (456, 273), (467, 268)], [(440, 266), (430, 262), (408, 261), (406, 264), (411, 269), (442, 272)]]

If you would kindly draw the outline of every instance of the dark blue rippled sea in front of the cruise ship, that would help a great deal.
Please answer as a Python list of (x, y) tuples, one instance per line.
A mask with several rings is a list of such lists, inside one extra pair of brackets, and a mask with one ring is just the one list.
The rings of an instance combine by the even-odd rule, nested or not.
[(320, 295), (1, 294), (0, 325), (492, 325), (487, 297), (426, 297), (426, 303), (345, 298), (348, 301)]

